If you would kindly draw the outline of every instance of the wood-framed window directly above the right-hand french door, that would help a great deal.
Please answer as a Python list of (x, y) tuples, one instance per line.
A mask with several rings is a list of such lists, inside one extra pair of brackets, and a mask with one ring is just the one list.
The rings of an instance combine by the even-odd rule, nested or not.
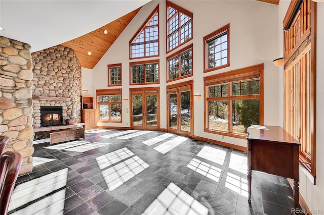
[(192, 44), (167, 58), (168, 81), (192, 76)]

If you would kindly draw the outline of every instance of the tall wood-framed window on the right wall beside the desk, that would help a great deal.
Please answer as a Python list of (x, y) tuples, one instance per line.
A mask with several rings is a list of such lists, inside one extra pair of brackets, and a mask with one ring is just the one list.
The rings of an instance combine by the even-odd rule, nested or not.
[[(296, 14), (295, 8), (300, 8)], [(315, 184), (316, 4), (292, 1), (284, 28), (284, 128), (301, 143), (299, 158)]]

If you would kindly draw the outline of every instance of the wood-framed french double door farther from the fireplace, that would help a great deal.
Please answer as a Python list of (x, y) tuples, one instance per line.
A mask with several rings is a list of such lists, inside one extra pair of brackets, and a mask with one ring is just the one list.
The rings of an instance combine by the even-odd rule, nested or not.
[(168, 132), (192, 136), (193, 102), (192, 84), (167, 89)]

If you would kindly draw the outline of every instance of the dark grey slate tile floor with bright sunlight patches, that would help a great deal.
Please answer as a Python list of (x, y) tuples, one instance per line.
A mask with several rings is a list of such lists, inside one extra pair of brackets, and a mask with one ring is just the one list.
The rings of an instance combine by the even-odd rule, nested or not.
[(9, 214), (292, 214), (286, 178), (252, 173), (247, 154), (158, 131), (89, 130), (49, 146), (17, 180)]

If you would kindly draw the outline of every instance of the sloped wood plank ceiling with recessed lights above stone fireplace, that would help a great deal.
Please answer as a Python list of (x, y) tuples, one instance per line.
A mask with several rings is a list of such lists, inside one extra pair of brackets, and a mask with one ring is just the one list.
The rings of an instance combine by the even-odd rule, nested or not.
[[(61, 45), (72, 48), (75, 51), (82, 67), (93, 69), (140, 9), (138, 8), (97, 30), (64, 42)], [(104, 30), (107, 30), (108, 34), (105, 35)], [(88, 56), (89, 51), (91, 51), (91, 56)]]

